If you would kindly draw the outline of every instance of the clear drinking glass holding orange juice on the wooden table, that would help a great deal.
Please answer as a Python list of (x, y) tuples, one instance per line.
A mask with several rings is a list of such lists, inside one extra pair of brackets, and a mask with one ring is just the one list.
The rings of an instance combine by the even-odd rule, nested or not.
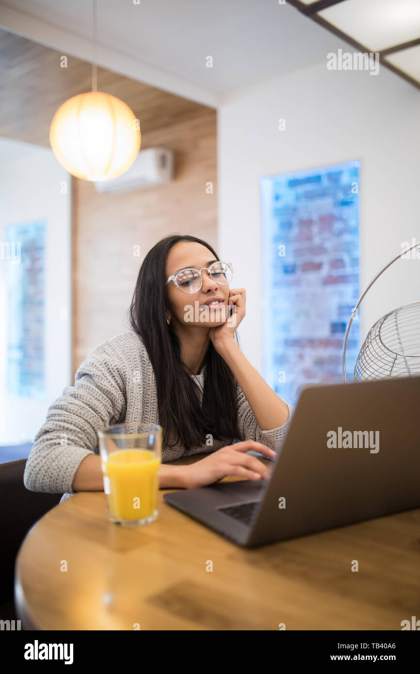
[(158, 516), (162, 428), (123, 423), (98, 430), (109, 519), (123, 526), (150, 524)]

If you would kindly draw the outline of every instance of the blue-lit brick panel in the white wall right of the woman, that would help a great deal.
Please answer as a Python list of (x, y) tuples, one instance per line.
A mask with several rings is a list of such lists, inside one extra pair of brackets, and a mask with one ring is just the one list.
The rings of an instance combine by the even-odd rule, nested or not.
[[(262, 179), (264, 377), (296, 404), (309, 382), (342, 382), (342, 343), (359, 297), (359, 166)], [(347, 379), (359, 353), (347, 347)]]

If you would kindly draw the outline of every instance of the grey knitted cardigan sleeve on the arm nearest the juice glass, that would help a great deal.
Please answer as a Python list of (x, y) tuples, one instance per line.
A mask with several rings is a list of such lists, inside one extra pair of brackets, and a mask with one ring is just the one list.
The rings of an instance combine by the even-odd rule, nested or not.
[(30, 491), (72, 492), (80, 462), (98, 454), (96, 431), (125, 418), (125, 365), (111, 340), (98, 344), (47, 412), (24, 470)]

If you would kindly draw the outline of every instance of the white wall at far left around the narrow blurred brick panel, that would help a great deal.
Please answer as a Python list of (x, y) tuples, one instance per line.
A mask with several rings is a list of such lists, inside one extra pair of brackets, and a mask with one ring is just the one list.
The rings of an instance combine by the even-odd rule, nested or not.
[[(61, 184), (67, 183), (67, 194)], [(71, 182), (49, 148), (0, 138), (0, 241), (9, 224), (46, 220), (43, 401), (7, 395), (7, 259), (0, 259), (0, 446), (32, 440), (71, 377)], [(67, 309), (67, 319), (61, 318)]]

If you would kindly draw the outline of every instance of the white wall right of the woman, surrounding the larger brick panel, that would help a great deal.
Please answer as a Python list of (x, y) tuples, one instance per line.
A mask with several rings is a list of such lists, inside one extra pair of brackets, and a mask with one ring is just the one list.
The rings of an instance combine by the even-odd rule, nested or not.
[[(278, 130), (280, 118), (286, 120), (284, 131)], [(238, 332), (260, 372), (264, 261), (258, 180), (351, 159), (361, 160), (362, 291), (400, 253), (403, 241), (420, 240), (420, 91), (384, 66), (369, 75), (328, 71), (325, 62), (224, 97), (218, 112), (218, 253), (233, 262), (234, 286), (247, 291), (247, 315)], [(415, 300), (420, 259), (400, 260), (363, 301), (362, 338), (386, 311)]]

